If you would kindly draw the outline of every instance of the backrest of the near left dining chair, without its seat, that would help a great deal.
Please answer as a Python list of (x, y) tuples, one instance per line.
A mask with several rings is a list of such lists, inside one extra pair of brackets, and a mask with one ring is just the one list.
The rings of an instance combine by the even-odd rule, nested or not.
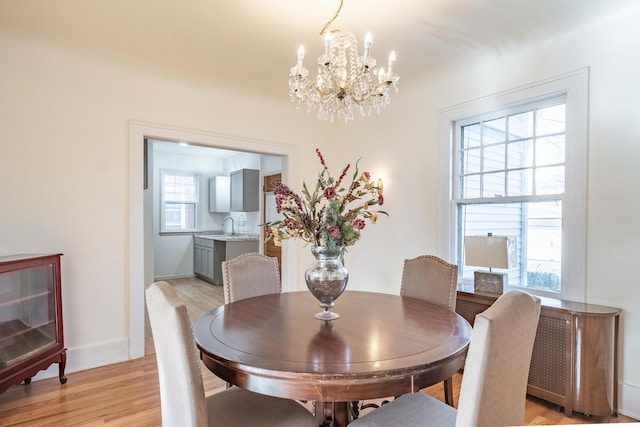
[(167, 282), (145, 292), (156, 348), (164, 427), (208, 423), (202, 371), (187, 308)]

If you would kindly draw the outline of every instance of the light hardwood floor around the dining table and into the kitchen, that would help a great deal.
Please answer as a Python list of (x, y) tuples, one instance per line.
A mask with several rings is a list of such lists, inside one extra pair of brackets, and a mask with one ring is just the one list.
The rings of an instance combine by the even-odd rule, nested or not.
[[(224, 301), (222, 287), (197, 279), (171, 281), (186, 302), (192, 321)], [(150, 342), (152, 345), (152, 341)], [(151, 347), (152, 348), (152, 347)], [(160, 426), (160, 391), (153, 353), (130, 362), (81, 372), (68, 373), (68, 382), (60, 385), (57, 377), (11, 387), (0, 395), (0, 426)], [(205, 390), (216, 393), (224, 381), (203, 368)], [(460, 375), (454, 376), (456, 402)], [(442, 385), (426, 389), (442, 400)], [(555, 405), (529, 398), (527, 425), (587, 424), (633, 422), (627, 417), (573, 418), (558, 412)]]

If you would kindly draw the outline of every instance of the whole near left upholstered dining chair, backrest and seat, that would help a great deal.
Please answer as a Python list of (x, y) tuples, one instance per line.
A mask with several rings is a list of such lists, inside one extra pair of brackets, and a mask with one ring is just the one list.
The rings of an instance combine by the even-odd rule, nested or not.
[(186, 306), (167, 282), (150, 285), (145, 297), (156, 348), (163, 426), (316, 426), (311, 413), (292, 400), (239, 387), (205, 397)]

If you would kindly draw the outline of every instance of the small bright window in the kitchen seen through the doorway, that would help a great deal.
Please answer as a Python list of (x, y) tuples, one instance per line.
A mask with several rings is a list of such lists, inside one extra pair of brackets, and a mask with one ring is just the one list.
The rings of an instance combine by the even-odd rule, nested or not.
[(162, 170), (160, 179), (161, 231), (194, 231), (198, 212), (198, 175)]

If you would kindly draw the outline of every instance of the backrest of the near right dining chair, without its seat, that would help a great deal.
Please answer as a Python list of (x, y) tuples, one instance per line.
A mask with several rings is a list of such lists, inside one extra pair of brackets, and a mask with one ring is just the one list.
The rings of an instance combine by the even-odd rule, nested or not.
[(524, 424), (540, 299), (510, 291), (478, 314), (467, 353), (456, 426)]

